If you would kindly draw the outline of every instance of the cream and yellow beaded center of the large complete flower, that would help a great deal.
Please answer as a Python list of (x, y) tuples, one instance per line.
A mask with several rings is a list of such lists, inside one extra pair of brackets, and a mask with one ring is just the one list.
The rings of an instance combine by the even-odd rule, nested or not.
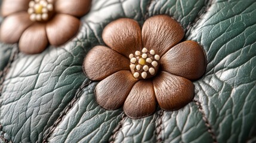
[(156, 75), (159, 69), (159, 55), (155, 51), (143, 48), (142, 51), (136, 51), (129, 55), (131, 72), (137, 79), (148, 79)]

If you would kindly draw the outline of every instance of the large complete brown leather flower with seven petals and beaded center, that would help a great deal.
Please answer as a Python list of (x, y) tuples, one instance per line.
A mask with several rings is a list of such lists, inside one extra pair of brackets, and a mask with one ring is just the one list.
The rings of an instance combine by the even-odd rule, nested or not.
[[(142, 30), (129, 18), (103, 30), (107, 46), (95, 46), (84, 60), (84, 72), (101, 80), (95, 98), (101, 107), (124, 105), (128, 117), (149, 116), (156, 102), (163, 110), (177, 110), (192, 101), (194, 85), (205, 72), (206, 57), (194, 41), (181, 42), (184, 30), (167, 15), (150, 17)], [(178, 43), (178, 44), (177, 44)]]

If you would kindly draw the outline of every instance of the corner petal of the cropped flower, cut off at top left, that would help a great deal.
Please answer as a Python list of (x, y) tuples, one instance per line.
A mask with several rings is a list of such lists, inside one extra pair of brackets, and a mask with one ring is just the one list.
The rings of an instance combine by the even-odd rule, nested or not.
[(27, 11), (31, 0), (4, 0), (2, 1), (2, 16), (17, 13), (18, 11)]

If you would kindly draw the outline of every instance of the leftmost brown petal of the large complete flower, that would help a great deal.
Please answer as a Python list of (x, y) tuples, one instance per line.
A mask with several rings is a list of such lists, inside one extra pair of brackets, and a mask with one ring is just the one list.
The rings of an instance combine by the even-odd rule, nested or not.
[(84, 72), (91, 80), (102, 80), (120, 70), (129, 70), (129, 60), (106, 46), (95, 46), (84, 60)]

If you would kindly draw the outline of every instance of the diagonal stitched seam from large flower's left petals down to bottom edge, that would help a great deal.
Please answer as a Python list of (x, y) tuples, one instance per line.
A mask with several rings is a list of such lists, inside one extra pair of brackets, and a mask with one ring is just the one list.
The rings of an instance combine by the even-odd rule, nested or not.
[(84, 82), (78, 91), (76, 91), (75, 97), (73, 98), (72, 101), (67, 104), (67, 106), (64, 108), (63, 111), (61, 111), (60, 116), (55, 120), (54, 124), (50, 127), (50, 131), (47, 133), (45, 138), (43, 139), (43, 143), (48, 142), (47, 139), (51, 137), (53, 134), (54, 130), (57, 128), (57, 126), (60, 124), (60, 122), (63, 120), (63, 117), (66, 116), (66, 114), (69, 112), (69, 110), (75, 105), (75, 103), (78, 101), (78, 99), (81, 97), (81, 92), (83, 91), (84, 88), (86, 88), (88, 85), (90, 85), (91, 80), (88, 82)]

